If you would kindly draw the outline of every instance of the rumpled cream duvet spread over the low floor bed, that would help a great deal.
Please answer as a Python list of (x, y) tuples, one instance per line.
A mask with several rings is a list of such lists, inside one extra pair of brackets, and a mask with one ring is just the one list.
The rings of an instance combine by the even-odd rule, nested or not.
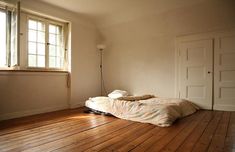
[(176, 119), (190, 115), (198, 107), (183, 99), (151, 98), (124, 101), (109, 97), (95, 97), (86, 101), (86, 107), (110, 113), (118, 118), (161, 127), (170, 126)]

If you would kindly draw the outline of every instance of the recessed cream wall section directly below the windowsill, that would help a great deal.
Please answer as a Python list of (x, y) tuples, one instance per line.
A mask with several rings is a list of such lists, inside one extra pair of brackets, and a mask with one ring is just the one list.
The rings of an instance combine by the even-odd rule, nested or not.
[(0, 119), (68, 107), (66, 74), (0, 72)]

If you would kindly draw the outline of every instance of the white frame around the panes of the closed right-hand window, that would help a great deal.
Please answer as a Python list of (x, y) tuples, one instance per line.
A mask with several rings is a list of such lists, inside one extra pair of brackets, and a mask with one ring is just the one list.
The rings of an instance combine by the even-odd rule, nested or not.
[[(36, 20), (36, 21), (42, 21), (45, 23), (45, 67), (29, 67), (28, 66), (28, 21), (32, 19), (32, 20)], [(58, 25), (61, 26), (62, 28), (62, 44), (63, 47), (62, 49), (64, 50), (64, 62), (63, 62), (63, 66), (61, 68), (50, 68), (49, 67), (49, 24), (52, 25)], [(32, 14), (27, 14), (27, 18), (26, 18), (26, 42), (25, 42), (25, 48), (26, 48), (26, 63), (25, 63), (25, 68), (28, 70), (45, 70), (45, 71), (68, 71), (68, 65), (67, 65), (67, 51), (66, 51), (66, 46), (65, 46), (65, 24), (66, 23), (62, 23), (60, 21), (55, 21), (53, 19), (48, 19), (48, 18), (44, 18), (44, 17), (39, 17), (36, 15), (32, 15)]]

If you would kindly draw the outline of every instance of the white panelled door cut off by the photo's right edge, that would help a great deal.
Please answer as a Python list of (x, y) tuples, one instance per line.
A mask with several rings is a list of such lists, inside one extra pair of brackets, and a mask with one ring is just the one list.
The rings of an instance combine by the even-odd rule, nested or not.
[(215, 38), (214, 109), (235, 110), (235, 31)]

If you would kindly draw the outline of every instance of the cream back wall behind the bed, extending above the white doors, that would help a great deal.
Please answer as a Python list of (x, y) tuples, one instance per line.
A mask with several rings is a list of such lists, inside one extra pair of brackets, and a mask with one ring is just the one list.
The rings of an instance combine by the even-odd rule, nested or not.
[(174, 97), (175, 37), (235, 27), (234, 6), (232, 0), (205, 0), (100, 26), (108, 45), (104, 55), (106, 88)]

